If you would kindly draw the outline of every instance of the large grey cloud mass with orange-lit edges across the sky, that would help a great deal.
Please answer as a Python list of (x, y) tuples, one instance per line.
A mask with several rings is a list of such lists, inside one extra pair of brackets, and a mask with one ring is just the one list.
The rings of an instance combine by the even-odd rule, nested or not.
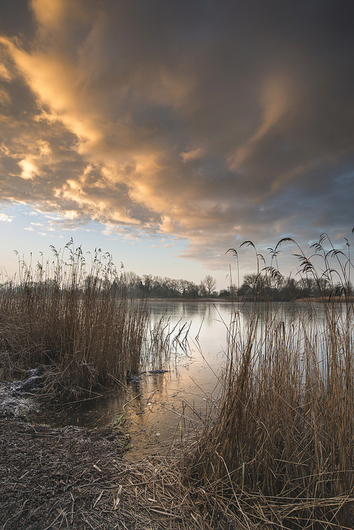
[(197, 4), (186, 18), (183, 2), (30, 2), (34, 37), (0, 37), (3, 201), (53, 226), (188, 238), (188, 258), (278, 234), (303, 197), (342, 212), (328, 197), (353, 150), (348, 69), (324, 69), (267, 17), (235, 31), (237, 3), (222, 23)]

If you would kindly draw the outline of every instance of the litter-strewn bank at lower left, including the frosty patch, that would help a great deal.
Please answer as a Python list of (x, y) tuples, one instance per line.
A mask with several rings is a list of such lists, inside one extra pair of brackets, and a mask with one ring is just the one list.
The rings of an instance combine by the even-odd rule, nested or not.
[(166, 459), (125, 460), (120, 426), (29, 422), (36, 398), (21, 385), (0, 383), (0, 530), (200, 528)]

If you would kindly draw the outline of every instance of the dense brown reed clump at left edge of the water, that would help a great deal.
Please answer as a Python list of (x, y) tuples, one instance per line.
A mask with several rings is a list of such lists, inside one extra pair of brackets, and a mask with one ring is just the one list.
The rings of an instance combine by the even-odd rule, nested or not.
[(47, 390), (64, 397), (137, 373), (151, 360), (146, 301), (125, 296), (109, 254), (86, 261), (72, 241), (52, 251), (52, 263), (19, 260), (1, 287), (0, 376), (45, 365)]

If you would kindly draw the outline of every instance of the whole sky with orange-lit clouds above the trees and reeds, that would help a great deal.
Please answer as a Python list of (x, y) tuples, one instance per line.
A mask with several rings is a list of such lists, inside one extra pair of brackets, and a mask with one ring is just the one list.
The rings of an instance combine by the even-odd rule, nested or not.
[[(73, 238), (227, 287), (354, 224), (354, 5), (2, 0), (1, 267)], [(353, 238), (353, 236), (351, 236)], [(282, 272), (296, 273), (292, 244)]]

